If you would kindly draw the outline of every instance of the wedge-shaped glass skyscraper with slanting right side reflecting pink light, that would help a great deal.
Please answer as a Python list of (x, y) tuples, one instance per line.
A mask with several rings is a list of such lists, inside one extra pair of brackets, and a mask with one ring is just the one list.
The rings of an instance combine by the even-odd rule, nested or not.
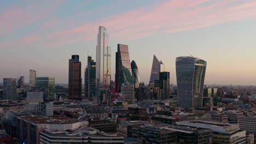
[(130, 55), (127, 45), (118, 44), (118, 52), (115, 53), (115, 85), (120, 85), (126, 81), (133, 83)]

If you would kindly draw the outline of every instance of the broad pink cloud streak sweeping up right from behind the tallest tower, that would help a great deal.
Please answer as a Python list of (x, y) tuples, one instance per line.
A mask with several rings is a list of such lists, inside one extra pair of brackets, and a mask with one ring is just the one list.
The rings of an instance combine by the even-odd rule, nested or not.
[[(136, 9), (107, 19), (88, 22), (83, 26), (57, 31), (51, 37), (66, 38), (69, 41), (77, 34), (86, 34), (84, 40), (96, 38), (97, 27), (105, 26), (110, 38), (132, 40), (154, 34), (190, 31), (227, 22), (253, 19), (256, 16), (256, 2), (242, 1), (183, 0), (165, 1), (151, 9)], [(67, 41), (68, 42), (68, 41)], [(62, 40), (61, 43), (65, 43)]]

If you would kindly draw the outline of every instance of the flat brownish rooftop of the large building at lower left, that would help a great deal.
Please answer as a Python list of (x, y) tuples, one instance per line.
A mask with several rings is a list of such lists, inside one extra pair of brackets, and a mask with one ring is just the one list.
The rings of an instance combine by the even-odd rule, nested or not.
[(37, 124), (71, 124), (79, 122), (78, 119), (62, 117), (62, 116), (49, 116), (49, 117), (27, 117), (22, 116), (19, 117), (24, 121), (28, 121), (30, 123), (37, 123)]

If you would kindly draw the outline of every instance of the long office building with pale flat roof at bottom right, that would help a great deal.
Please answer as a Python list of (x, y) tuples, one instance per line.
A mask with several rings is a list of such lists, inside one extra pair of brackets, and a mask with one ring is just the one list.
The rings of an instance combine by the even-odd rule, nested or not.
[(188, 127), (211, 129), (213, 131), (213, 143), (245, 143), (246, 131), (240, 130), (239, 124), (217, 123), (208, 121), (184, 121), (176, 122), (178, 125)]

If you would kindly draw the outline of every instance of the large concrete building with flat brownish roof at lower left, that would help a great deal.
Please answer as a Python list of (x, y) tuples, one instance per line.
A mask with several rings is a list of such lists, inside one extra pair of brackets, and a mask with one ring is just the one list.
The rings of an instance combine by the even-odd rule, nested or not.
[(67, 130), (78, 129), (88, 125), (88, 121), (78, 121), (68, 117), (18, 117), (18, 136), (21, 143), (39, 144), (40, 132), (44, 130)]

